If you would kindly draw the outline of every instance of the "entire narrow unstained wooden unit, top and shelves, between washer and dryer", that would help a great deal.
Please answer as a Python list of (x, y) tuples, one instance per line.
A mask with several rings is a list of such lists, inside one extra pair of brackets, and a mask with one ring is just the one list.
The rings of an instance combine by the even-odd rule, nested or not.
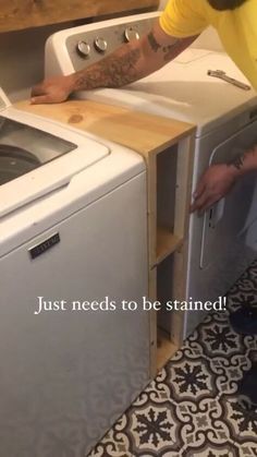
[[(186, 287), (195, 125), (90, 100), (60, 105), (23, 101), (15, 107), (120, 143), (145, 158), (149, 300), (162, 304), (167, 300), (182, 301)], [(181, 346), (183, 325), (182, 311), (150, 311), (152, 377)]]

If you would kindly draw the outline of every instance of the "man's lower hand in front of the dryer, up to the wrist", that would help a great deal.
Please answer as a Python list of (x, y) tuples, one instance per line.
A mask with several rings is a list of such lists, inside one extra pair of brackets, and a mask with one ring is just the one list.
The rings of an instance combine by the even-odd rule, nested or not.
[(237, 178), (234, 166), (227, 164), (211, 165), (199, 179), (193, 194), (191, 213), (203, 213), (230, 192)]

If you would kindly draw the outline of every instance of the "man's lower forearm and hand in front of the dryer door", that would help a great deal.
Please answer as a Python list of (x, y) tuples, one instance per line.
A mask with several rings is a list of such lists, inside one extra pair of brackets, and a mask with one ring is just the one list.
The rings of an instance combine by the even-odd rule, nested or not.
[(252, 170), (257, 171), (257, 145), (245, 151), (231, 164), (210, 166), (197, 183), (191, 212), (203, 213), (230, 192), (241, 176)]

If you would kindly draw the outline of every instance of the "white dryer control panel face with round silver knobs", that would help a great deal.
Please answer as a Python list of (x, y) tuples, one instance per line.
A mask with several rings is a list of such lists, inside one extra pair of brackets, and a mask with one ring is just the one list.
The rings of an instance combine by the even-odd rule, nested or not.
[[(65, 46), (75, 71), (85, 69), (100, 60), (124, 43), (139, 39), (147, 34), (156, 17), (124, 22), (115, 25), (105, 25), (95, 31), (77, 32), (66, 38)], [(107, 21), (108, 22), (108, 21)], [(81, 27), (79, 27), (81, 28)]]

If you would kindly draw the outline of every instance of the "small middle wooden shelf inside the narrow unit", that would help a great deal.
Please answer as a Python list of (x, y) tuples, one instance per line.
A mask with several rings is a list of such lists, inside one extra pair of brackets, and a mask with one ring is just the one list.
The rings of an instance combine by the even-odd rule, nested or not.
[(176, 237), (170, 229), (157, 227), (156, 265), (180, 249), (182, 244), (183, 239)]

